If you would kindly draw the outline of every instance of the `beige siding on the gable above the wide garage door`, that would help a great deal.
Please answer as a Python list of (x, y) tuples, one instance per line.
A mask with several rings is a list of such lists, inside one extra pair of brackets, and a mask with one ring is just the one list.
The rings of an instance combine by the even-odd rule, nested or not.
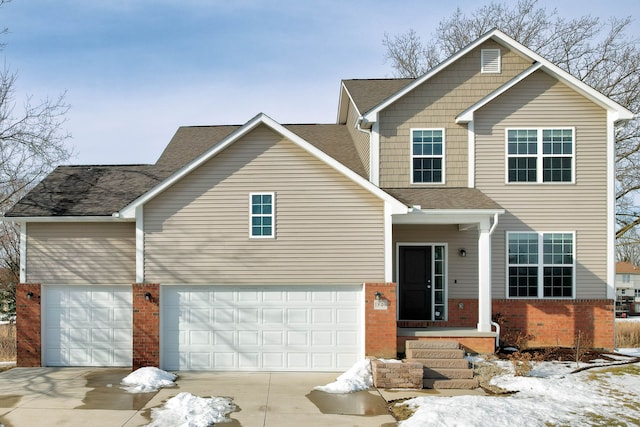
[[(276, 238), (249, 238), (249, 194), (275, 192)], [(261, 126), (144, 206), (145, 277), (163, 284), (384, 279), (383, 202)]]

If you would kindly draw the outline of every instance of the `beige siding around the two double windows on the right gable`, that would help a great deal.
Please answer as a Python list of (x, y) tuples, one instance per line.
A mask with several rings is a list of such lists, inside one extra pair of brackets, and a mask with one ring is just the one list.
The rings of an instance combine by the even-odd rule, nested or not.
[[(575, 184), (505, 184), (505, 129), (575, 127)], [(575, 231), (577, 298), (606, 298), (606, 111), (538, 71), (476, 113), (476, 185), (505, 207), (493, 235), (493, 295), (506, 231)]]

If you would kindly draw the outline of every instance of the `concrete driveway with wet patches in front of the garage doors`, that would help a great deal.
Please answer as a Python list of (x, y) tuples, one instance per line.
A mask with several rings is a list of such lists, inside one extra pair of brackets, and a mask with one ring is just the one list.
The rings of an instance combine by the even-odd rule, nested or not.
[[(128, 369), (13, 368), (0, 372), (4, 427), (142, 426), (151, 409), (186, 391), (231, 397), (238, 407), (225, 426), (395, 426), (382, 394), (312, 391), (337, 373), (179, 372), (177, 387), (131, 394), (120, 389)], [(398, 396), (394, 396), (397, 398)]]

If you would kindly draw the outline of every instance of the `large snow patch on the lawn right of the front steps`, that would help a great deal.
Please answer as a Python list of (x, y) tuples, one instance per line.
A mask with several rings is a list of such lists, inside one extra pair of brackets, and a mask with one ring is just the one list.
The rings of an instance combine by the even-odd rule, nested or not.
[[(575, 363), (539, 362), (526, 377), (505, 370), (491, 383), (508, 396), (427, 396), (405, 404), (415, 409), (400, 427), (636, 425), (640, 420), (640, 363), (572, 374)], [(620, 423), (623, 424), (620, 424)]]

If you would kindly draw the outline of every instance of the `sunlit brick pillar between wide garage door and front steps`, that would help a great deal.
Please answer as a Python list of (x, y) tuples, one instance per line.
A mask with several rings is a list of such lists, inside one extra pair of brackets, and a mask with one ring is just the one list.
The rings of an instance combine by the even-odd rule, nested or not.
[[(386, 310), (375, 310), (375, 293), (387, 303)], [(365, 283), (365, 354), (395, 358), (396, 353), (396, 284)]]

